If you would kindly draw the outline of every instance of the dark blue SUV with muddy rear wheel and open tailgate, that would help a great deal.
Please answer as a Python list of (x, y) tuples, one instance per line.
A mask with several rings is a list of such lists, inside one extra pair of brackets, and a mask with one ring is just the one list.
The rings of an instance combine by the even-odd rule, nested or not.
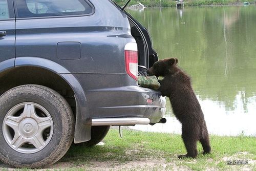
[[(147, 30), (109, 0), (0, 0), (0, 159), (58, 161), (110, 125), (161, 122), (166, 99), (138, 86), (158, 60)], [(164, 120), (164, 119), (163, 119)]]

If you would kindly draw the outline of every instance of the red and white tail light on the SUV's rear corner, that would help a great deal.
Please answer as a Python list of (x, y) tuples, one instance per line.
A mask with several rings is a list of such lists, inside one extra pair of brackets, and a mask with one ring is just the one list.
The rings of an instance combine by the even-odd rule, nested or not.
[(124, 56), (127, 74), (138, 80), (138, 50), (136, 42), (130, 42), (125, 45)]

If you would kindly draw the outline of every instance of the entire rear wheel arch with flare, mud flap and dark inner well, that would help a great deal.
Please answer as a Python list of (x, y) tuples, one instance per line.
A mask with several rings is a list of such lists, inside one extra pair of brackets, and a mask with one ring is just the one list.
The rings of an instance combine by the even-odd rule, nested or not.
[[(0, 95), (22, 84), (40, 84), (49, 87), (66, 98), (74, 109), (75, 143), (91, 139), (91, 117), (86, 94), (77, 78), (66, 68), (48, 59), (18, 57), (0, 63)], [(8, 65), (7, 65), (8, 64)], [(73, 96), (72, 96), (73, 94)]]

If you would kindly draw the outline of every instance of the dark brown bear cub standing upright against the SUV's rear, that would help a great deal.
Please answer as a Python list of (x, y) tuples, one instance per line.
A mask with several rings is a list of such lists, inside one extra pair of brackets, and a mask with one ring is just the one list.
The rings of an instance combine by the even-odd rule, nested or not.
[(187, 154), (183, 157), (197, 157), (197, 141), (203, 146), (203, 154), (210, 153), (209, 135), (204, 114), (191, 87), (190, 78), (177, 66), (177, 58), (159, 60), (147, 70), (148, 75), (163, 76), (160, 92), (170, 99), (175, 116), (182, 124), (182, 139)]

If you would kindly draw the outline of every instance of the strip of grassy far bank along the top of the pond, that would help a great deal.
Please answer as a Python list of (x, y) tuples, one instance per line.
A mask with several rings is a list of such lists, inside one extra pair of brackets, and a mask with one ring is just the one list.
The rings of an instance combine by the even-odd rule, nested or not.
[[(114, 0), (120, 6), (123, 6), (127, 0)], [(146, 7), (174, 7), (175, 1), (172, 0), (132, 0), (129, 5), (142, 3)], [(254, 4), (255, 0), (185, 0), (185, 6), (203, 6), (203, 5), (234, 5), (249, 2)]]

